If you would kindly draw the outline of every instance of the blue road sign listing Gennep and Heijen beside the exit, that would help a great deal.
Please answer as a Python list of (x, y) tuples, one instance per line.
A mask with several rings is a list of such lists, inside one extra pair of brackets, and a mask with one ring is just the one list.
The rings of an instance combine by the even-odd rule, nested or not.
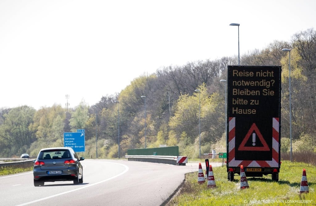
[(75, 152), (84, 152), (84, 132), (64, 132), (64, 147), (71, 147)]

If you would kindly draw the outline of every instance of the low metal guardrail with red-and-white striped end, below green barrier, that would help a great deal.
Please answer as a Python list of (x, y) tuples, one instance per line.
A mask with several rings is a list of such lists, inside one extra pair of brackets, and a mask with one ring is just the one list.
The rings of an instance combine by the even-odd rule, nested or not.
[(159, 156), (159, 155), (125, 155), (128, 161), (155, 162), (173, 165), (185, 165), (188, 162), (186, 156)]

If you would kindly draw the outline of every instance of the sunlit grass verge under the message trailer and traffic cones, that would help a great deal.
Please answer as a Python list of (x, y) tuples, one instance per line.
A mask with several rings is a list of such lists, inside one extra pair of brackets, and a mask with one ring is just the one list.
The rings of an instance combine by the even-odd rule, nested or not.
[[(303, 168), (306, 169), (309, 193), (300, 194)], [(316, 205), (316, 170), (312, 164), (282, 161), (279, 181), (271, 176), (248, 177), (248, 189), (240, 190), (240, 177), (227, 180), (226, 167), (213, 168), (216, 188), (207, 188), (207, 181), (197, 183), (198, 172), (186, 174), (178, 195), (166, 205)], [(205, 171), (204, 171), (205, 174)]]

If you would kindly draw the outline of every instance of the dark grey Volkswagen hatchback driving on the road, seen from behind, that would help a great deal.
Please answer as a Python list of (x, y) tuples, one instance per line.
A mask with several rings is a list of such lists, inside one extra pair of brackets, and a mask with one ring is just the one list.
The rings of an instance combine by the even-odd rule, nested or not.
[(41, 149), (34, 160), (34, 186), (44, 185), (44, 182), (73, 181), (75, 185), (83, 183), (82, 165), (70, 147), (52, 147)]

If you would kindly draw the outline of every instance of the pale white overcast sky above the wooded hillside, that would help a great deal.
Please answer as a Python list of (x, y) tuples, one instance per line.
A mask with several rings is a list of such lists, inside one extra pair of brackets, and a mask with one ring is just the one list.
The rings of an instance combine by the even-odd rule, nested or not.
[[(0, 108), (92, 106), (134, 79), (316, 29), (314, 0), (0, 0)], [(281, 50), (282, 48), (280, 48)]]

